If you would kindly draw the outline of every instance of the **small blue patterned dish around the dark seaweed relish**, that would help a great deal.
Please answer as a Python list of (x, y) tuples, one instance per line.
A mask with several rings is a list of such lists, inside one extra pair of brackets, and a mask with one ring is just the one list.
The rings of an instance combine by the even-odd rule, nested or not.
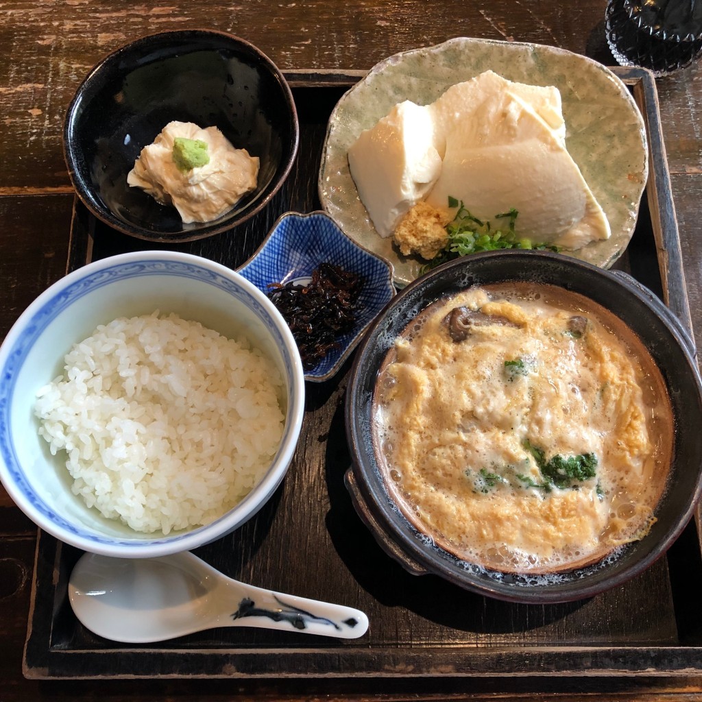
[(358, 300), (354, 329), (338, 338), (331, 350), (305, 380), (322, 383), (338, 371), (361, 340), (369, 324), (395, 296), (392, 265), (355, 244), (325, 212), (286, 212), (273, 225), (258, 251), (237, 272), (263, 293), (272, 283), (307, 284), (321, 263), (338, 265), (361, 275), (364, 286)]

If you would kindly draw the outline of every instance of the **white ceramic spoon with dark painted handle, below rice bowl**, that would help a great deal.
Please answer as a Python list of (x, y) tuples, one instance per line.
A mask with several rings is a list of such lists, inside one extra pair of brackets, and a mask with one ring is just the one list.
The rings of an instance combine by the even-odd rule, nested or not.
[(355, 639), (368, 617), (340, 604), (245, 585), (192, 553), (126, 559), (86, 553), (68, 596), (79, 621), (113, 641), (164, 641), (218, 626), (253, 626)]

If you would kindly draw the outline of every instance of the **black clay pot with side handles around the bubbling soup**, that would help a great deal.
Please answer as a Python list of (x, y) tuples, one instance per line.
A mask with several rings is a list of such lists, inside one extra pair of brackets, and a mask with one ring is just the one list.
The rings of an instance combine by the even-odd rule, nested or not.
[[(393, 341), (416, 314), (472, 285), (531, 281), (581, 293), (611, 310), (640, 336), (668, 385), (675, 419), (675, 454), (658, 521), (615, 559), (543, 576), (486, 571), (460, 561), (418, 534), (388, 496), (371, 436), (371, 399), (378, 369)], [(581, 600), (623, 583), (665, 552), (689, 521), (702, 486), (702, 385), (694, 347), (675, 315), (621, 272), (542, 251), (477, 253), (447, 263), (407, 286), (381, 312), (357, 350), (346, 400), (352, 468), (346, 484), (359, 515), (381, 546), (414, 574), (433, 573), (483, 595), (512, 602)]]

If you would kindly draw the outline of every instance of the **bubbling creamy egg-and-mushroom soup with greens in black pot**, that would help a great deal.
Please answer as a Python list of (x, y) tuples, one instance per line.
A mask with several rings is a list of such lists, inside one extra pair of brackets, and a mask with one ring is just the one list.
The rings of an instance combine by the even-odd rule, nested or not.
[(423, 534), (501, 571), (595, 562), (656, 521), (673, 451), (661, 373), (591, 300), (504, 283), (430, 305), (373, 402), (385, 483)]

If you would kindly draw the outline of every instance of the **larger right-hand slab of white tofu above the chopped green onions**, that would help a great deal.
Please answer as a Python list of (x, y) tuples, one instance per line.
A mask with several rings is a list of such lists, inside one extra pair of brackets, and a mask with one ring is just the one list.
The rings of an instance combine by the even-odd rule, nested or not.
[(558, 130), (510, 89), (482, 101), (464, 97), (470, 119), (444, 117), (442, 171), (428, 204), (446, 208), (456, 198), (494, 227), (504, 221), (497, 214), (515, 208), (519, 237), (566, 249), (609, 237), (607, 218)]

